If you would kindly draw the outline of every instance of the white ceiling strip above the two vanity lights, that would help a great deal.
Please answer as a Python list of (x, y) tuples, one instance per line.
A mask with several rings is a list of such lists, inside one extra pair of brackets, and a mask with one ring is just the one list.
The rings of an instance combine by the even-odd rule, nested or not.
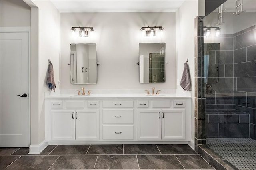
[(51, 0), (60, 12), (176, 12), (185, 0)]

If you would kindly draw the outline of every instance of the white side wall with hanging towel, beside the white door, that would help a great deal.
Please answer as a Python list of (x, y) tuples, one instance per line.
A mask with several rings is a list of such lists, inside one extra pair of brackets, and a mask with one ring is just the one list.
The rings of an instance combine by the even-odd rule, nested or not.
[[(31, 59), (31, 65), (37, 74), (31, 75), (33, 81), (37, 81), (35, 85), (38, 87), (33, 87), (31, 93), (37, 93), (34, 96), (38, 97), (35, 99), (38, 102), (36, 107), (33, 106), (34, 108), (31, 109), (31, 144), (36, 145), (45, 139), (44, 92), (49, 91), (46, 85), (48, 59), (53, 64), (55, 83), (60, 79), (60, 13), (50, 1), (33, 0), (33, 2), (38, 7), (38, 60)], [(36, 69), (34, 66), (37, 65)]]

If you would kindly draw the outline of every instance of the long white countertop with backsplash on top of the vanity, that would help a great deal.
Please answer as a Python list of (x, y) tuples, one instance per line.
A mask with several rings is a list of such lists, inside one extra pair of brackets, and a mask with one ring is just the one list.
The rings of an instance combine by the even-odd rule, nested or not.
[(56, 90), (55, 93), (46, 92), (45, 99), (192, 99), (191, 91), (178, 92), (176, 89), (161, 89), (159, 95), (156, 95), (156, 90), (154, 95), (147, 95), (145, 91), (143, 93), (142, 91), (144, 90), (92, 90), (90, 95), (82, 95), (81, 91), (81, 95), (78, 95), (75, 90)]

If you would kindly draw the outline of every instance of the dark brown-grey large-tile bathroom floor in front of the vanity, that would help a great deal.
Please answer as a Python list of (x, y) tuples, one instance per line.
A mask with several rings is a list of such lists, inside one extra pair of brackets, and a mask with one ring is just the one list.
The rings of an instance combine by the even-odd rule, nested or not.
[(1, 148), (0, 169), (214, 170), (188, 145), (49, 145), (37, 155), (28, 148)]

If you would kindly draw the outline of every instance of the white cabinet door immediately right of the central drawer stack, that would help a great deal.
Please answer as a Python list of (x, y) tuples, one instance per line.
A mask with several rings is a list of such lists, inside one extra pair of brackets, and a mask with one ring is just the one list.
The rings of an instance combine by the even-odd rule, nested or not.
[(137, 138), (138, 140), (161, 139), (160, 109), (137, 111)]

